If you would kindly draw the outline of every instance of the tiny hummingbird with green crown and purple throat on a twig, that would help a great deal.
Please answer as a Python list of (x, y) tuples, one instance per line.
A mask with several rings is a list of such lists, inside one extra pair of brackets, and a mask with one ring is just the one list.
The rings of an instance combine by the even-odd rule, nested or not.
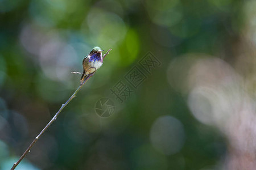
[(84, 82), (84, 80), (86, 80), (90, 74), (94, 73), (94, 71), (100, 69), (103, 63), (103, 51), (104, 50), (101, 50), (100, 47), (94, 46), (90, 53), (84, 57), (82, 60), (82, 67), (84, 68), (84, 72), (80, 79), (81, 82)]

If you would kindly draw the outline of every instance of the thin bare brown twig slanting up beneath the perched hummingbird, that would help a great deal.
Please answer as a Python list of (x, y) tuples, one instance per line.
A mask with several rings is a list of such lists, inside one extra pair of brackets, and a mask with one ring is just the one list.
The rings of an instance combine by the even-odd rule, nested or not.
[[(103, 57), (103, 58), (105, 58), (106, 55), (109, 54), (109, 51), (110, 51), (110, 50), (112, 50), (112, 49), (109, 49), (108, 52), (106, 52), (106, 54), (104, 54), (104, 57)], [(89, 69), (92, 69), (92, 68), (95, 69), (95, 67), (90, 67)], [(89, 70), (89, 69), (88, 69), (88, 70)], [(79, 72), (74, 72), (74, 73), (79, 73)], [(82, 86), (84, 86), (84, 84), (87, 82), (87, 80), (89, 80), (89, 78), (91, 78), (95, 73), (96, 73), (96, 69), (95, 69), (95, 71), (94, 71), (92, 74), (88, 74), (89, 76), (86, 76), (86, 79), (84, 79), (84, 81), (83, 81), (82, 83), (80, 83), (79, 87), (78, 87), (77, 90), (73, 93), (73, 95), (72, 95), (71, 97), (69, 97), (69, 99), (66, 101), (65, 104), (61, 105), (59, 111), (55, 114), (55, 116), (52, 118), (52, 120), (49, 121), (49, 123), (46, 125), (46, 127), (44, 127), (44, 129), (38, 134), (37, 137), (35, 137), (34, 141), (30, 144), (30, 146), (28, 146), (27, 150), (23, 153), (23, 155), (20, 156), (19, 160), (13, 164), (13, 167), (11, 168), (11, 170), (15, 169), (15, 168), (17, 167), (17, 165), (22, 161), (22, 159), (27, 155), (27, 153), (30, 152), (32, 146), (36, 143), (36, 141), (38, 141), (38, 139), (42, 136), (42, 134), (44, 133), (44, 131), (46, 131), (46, 130), (49, 128), (49, 126), (56, 120), (57, 116), (59, 116), (60, 112), (64, 109), (64, 107), (65, 107), (66, 105), (68, 105), (68, 103), (69, 103), (73, 98), (76, 97), (77, 92), (80, 91), (80, 89), (82, 88)]]

